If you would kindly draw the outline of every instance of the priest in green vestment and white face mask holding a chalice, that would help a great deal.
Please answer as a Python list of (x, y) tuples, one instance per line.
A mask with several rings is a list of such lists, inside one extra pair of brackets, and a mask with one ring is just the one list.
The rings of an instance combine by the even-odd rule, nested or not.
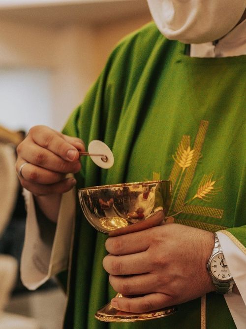
[[(20, 180), (35, 195), (37, 217), (58, 218), (57, 225), (61, 195), (75, 183), (78, 188), (156, 179), (173, 183), (167, 224), (116, 238), (96, 232), (77, 202), (69, 268), (56, 263), (52, 272), (61, 272), (67, 287), (64, 328), (246, 326), (246, 5), (211, 0), (206, 6), (197, 0), (191, 7), (191, 2), (150, 0), (158, 29), (150, 23), (116, 46), (63, 135), (36, 127), (19, 147)], [(95, 139), (113, 151), (109, 170), (90, 158), (79, 161), (76, 149)], [(38, 152), (49, 156), (47, 163), (34, 161)], [(64, 180), (68, 172), (76, 181)], [(57, 207), (51, 210), (49, 202)], [(226, 295), (215, 292), (219, 288), (206, 268), (215, 232), (235, 283)], [(116, 292), (139, 295), (113, 299), (120, 310), (178, 304), (178, 312), (147, 322), (95, 320), (96, 310)]]

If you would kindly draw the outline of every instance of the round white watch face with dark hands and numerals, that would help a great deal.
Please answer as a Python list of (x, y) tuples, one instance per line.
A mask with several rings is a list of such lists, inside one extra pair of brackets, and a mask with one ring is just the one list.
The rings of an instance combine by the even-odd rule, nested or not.
[(219, 281), (229, 281), (232, 279), (231, 273), (222, 253), (216, 254), (212, 258), (210, 269), (213, 276)]

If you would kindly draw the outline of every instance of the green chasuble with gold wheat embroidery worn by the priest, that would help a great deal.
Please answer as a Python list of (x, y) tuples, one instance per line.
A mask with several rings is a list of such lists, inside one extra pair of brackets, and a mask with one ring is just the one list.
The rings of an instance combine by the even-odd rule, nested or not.
[[(170, 179), (176, 222), (226, 230), (246, 253), (245, 121), (246, 56), (190, 58), (151, 23), (117, 45), (63, 132), (86, 145), (102, 140), (114, 153), (109, 170), (82, 157), (78, 188)], [(106, 238), (78, 205), (64, 328), (200, 328), (201, 298), (163, 319), (95, 320), (115, 295), (102, 267)], [(222, 295), (207, 295), (206, 326), (236, 328)]]

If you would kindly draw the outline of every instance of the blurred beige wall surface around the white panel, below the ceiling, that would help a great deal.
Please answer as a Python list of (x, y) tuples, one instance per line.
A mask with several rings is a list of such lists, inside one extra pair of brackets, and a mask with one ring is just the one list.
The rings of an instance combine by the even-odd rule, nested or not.
[(101, 24), (42, 27), (0, 22), (0, 68), (44, 68), (52, 73), (52, 126), (61, 129), (102, 70), (114, 45), (150, 21), (140, 16)]

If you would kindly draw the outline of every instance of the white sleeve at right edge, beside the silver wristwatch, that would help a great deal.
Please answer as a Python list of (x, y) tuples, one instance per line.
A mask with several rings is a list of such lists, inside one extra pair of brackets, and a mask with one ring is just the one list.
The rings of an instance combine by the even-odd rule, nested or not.
[[(227, 306), (231, 312), (237, 329), (246, 328), (246, 253), (245, 247), (238, 247), (229, 236), (216, 232), (228, 268), (240, 292), (225, 294)], [(232, 236), (233, 238), (233, 236)]]

